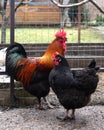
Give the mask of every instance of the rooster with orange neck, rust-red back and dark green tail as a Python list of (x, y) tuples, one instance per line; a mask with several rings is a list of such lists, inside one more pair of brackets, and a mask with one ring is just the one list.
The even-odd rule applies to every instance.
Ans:
[(25, 90), (38, 98), (39, 109), (43, 108), (41, 98), (46, 97), (50, 91), (48, 76), (54, 67), (52, 55), (58, 51), (64, 56), (66, 40), (66, 32), (60, 29), (44, 55), (37, 59), (28, 58), (19, 43), (11, 44), (6, 50), (7, 75), (22, 82)]

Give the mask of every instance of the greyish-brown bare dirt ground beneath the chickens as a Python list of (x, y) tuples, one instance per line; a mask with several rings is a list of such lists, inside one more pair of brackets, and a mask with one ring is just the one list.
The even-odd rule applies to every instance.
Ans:
[(88, 106), (76, 110), (74, 121), (61, 121), (65, 109), (59, 105), (54, 94), (50, 101), (58, 108), (38, 110), (35, 107), (0, 109), (0, 130), (104, 130), (104, 73), (99, 74), (100, 81)]

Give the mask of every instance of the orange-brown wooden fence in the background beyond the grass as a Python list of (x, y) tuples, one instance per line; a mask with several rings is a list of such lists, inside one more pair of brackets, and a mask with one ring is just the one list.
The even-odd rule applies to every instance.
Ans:
[[(6, 15), (10, 15), (9, 6), (6, 9)], [(57, 25), (60, 24), (61, 13), (56, 6), (21, 6), (15, 13), (15, 24), (22, 26), (29, 25)], [(0, 15), (0, 24), (2, 18)]]

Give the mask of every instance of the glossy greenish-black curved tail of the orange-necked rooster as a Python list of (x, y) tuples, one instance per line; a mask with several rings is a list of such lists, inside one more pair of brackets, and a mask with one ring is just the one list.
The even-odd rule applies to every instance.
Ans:
[(26, 58), (27, 54), (23, 46), (19, 43), (11, 44), (6, 50), (6, 73), (16, 79), (16, 62), (21, 58)]

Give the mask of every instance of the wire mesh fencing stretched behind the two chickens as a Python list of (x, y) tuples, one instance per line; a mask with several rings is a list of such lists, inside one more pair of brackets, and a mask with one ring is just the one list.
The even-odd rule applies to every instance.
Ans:
[[(19, 1), (16, 1), (17, 5)], [(104, 1), (103, 1), (104, 2)], [(81, 7), (80, 23), (78, 21), (78, 8), (62, 10), (53, 5), (49, 0), (26, 0), (15, 12), (15, 41), (23, 44), (28, 57), (40, 57), (44, 54), (47, 46), (55, 38), (55, 33), (64, 24), (64, 30), (67, 33), (67, 50), (65, 57), (67, 58), (72, 68), (84, 68), (88, 63), (95, 59), (98, 66), (104, 67), (104, 14), (101, 14), (92, 5), (84, 5)], [(9, 17), (10, 7), (7, 5), (6, 17)], [(63, 15), (63, 18), (62, 18)], [(2, 36), (3, 19), (0, 15), (0, 36)], [(80, 25), (79, 25), (80, 24)], [(7, 21), (6, 27), (6, 43), (0, 44), (0, 48), (4, 49), (10, 44), (10, 23)], [(80, 26), (80, 28), (79, 28)], [(80, 42), (78, 41), (80, 32)], [(5, 52), (4, 52), (5, 53)], [(3, 54), (4, 54), (3, 53)], [(2, 54), (1, 54), (2, 55)], [(1, 56), (0, 55), (0, 56)], [(0, 57), (1, 58), (1, 57)], [(1, 71), (5, 71), (5, 54), (2, 58), (4, 64)], [(1, 62), (1, 59), (0, 59)], [(5, 79), (8, 82), (5, 84)], [(3, 85), (2, 96), (0, 100), (5, 104), (10, 95), (6, 95), (6, 90), (9, 88), (8, 76), (1, 75), (0, 84)], [(18, 83), (15, 83), (15, 93), (20, 97), (17, 102), (19, 104), (33, 104), (34, 98), (23, 91)], [(24, 97), (28, 97), (24, 98)], [(29, 102), (28, 102), (29, 101)], [(7, 101), (8, 102), (8, 101)]]

